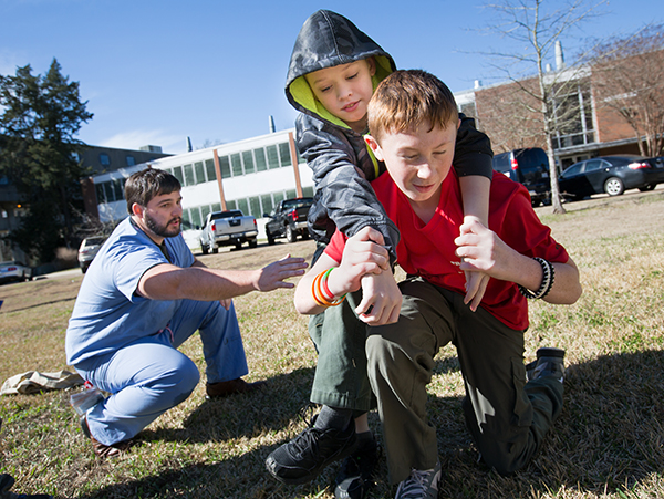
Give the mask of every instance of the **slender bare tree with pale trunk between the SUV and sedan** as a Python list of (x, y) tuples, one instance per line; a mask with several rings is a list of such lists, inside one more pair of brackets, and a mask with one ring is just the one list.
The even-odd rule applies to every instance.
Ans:
[[(553, 212), (562, 214), (564, 208), (558, 188), (554, 141), (561, 135), (574, 133), (584, 119), (583, 100), (575, 93), (580, 82), (589, 77), (588, 69), (581, 65), (564, 65), (562, 52), (557, 51), (557, 42), (563, 34), (578, 28), (583, 21), (598, 14), (598, 7), (604, 0), (501, 0), (485, 7), (495, 13), (489, 31), (517, 42), (511, 52), (484, 52), (497, 70), (509, 82), (511, 108), (508, 117), (513, 123), (521, 122), (520, 128), (539, 137), (549, 157), (551, 178), (551, 204)], [(526, 50), (522, 50), (522, 48)], [(560, 45), (558, 44), (558, 48)], [(557, 71), (548, 71), (547, 61), (557, 55)], [(483, 123), (486, 117), (479, 108)], [(504, 119), (505, 121), (505, 119)], [(512, 127), (515, 126), (512, 123)], [(487, 133), (490, 134), (487, 127)]]

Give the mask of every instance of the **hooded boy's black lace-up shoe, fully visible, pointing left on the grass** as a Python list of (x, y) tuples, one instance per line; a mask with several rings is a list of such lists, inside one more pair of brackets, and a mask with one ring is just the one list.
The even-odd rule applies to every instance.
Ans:
[(270, 475), (288, 485), (307, 484), (323, 468), (355, 450), (355, 423), (344, 430), (315, 428), (315, 416), (300, 435), (272, 451), (266, 459)]

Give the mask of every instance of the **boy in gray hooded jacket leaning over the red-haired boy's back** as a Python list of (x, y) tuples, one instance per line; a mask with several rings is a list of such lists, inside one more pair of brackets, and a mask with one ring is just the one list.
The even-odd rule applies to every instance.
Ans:
[[(367, 226), (382, 235), (380, 242), (391, 264), (396, 260), (398, 229), (371, 187), (385, 166), (363, 137), (373, 91), (395, 70), (387, 52), (335, 12), (313, 13), (298, 34), (286, 94), (300, 111), (297, 144), (313, 170), (317, 187), (308, 217), (317, 241), (314, 262), (335, 229), (351, 237)], [(463, 114), (459, 118), (454, 163), (465, 215), (486, 225), (492, 175), (490, 142), (473, 119)], [(466, 276), (465, 302), (476, 310), (488, 277), (479, 272)], [(365, 325), (395, 322), (402, 303), (392, 272), (367, 274), (362, 289), (364, 293), (350, 293), (341, 306), (311, 319), (309, 332), (319, 353), (311, 402), (321, 404), (322, 409), (304, 432), (266, 461), (280, 481), (303, 484), (346, 457), (336, 477), (338, 498), (362, 497), (377, 461), (377, 446), (366, 419), (375, 398), (366, 375)]]

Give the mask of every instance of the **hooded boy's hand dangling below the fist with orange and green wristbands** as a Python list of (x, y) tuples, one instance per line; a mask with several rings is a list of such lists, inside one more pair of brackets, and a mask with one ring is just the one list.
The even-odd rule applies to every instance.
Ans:
[(370, 273), (362, 278), (362, 301), (355, 313), (369, 325), (391, 324), (398, 320), (402, 299), (392, 272)]

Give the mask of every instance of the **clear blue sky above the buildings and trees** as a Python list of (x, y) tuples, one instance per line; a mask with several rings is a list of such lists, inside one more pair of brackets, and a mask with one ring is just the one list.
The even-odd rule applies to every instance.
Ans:
[[(351, 19), (398, 67), (439, 76), (453, 92), (490, 83), (479, 51), (506, 41), (480, 31), (490, 22), (483, 0), (404, 2), (267, 0), (0, 0), (0, 74), (30, 64), (44, 74), (53, 58), (94, 117), (79, 138), (184, 153), (293, 126), (283, 94), (291, 50), (318, 9)], [(559, 0), (551, 3), (562, 4)], [(566, 58), (585, 38), (629, 34), (663, 22), (662, 0), (610, 0), (604, 15), (563, 38)], [(553, 63), (553, 61), (551, 61)]]

